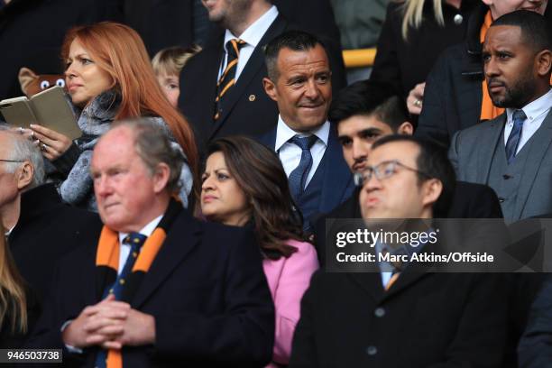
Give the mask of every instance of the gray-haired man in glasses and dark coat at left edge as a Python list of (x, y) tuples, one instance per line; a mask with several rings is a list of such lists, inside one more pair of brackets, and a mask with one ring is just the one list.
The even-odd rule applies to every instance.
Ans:
[(39, 303), (50, 293), (52, 265), (101, 226), (96, 214), (63, 204), (44, 179), (40, 149), (0, 126), (0, 220), (15, 264)]

